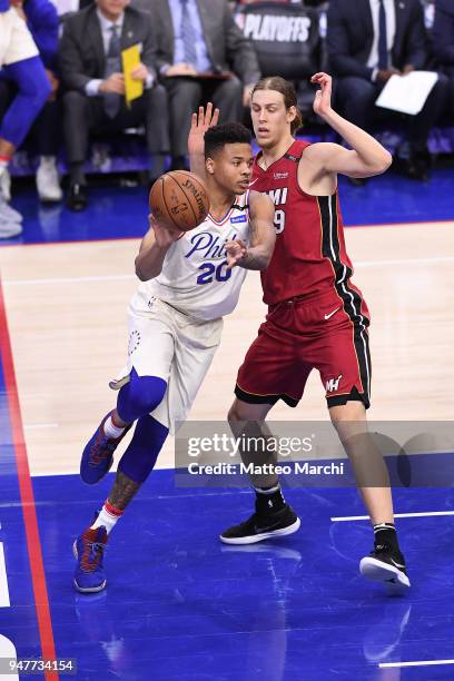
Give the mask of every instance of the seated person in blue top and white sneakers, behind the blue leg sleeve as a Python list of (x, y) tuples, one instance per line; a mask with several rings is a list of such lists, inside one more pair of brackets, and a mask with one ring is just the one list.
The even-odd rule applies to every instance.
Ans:
[[(34, 39), (51, 87), (45, 108), (33, 125), (33, 138), (40, 156), (37, 171), (37, 189), (42, 201), (59, 201), (62, 198), (57, 171), (57, 154), (60, 142), (60, 116), (56, 75), (58, 50), (58, 16), (50, 0), (11, 0), (11, 4), (27, 21)], [(18, 92), (17, 85), (0, 71), (0, 118)], [(7, 189), (8, 191), (8, 189)]]

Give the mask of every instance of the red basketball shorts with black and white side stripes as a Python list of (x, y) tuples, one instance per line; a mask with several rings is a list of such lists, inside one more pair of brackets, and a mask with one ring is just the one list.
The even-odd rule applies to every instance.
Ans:
[(361, 401), (369, 407), (369, 314), (353, 284), (269, 308), (239, 368), (235, 394), (250, 404), (283, 399), (296, 406), (318, 369), (328, 407)]

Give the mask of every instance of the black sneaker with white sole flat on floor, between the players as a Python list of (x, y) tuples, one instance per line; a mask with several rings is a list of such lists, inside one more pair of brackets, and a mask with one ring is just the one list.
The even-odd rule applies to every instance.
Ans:
[(299, 530), (299, 517), (288, 504), (274, 513), (254, 513), (247, 521), (229, 527), (219, 539), (225, 544), (254, 544)]

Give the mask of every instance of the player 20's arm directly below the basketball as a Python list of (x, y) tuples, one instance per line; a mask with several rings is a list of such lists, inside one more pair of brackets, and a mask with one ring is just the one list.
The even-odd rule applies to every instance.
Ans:
[(148, 219), (150, 228), (141, 240), (136, 258), (136, 275), (140, 282), (148, 282), (160, 275), (167, 251), (185, 234), (159, 225), (151, 214)]

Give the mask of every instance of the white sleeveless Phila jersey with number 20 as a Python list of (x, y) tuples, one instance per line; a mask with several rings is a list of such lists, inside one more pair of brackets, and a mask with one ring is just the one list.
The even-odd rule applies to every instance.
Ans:
[(249, 191), (237, 197), (227, 215), (211, 215), (185, 233), (169, 248), (158, 277), (145, 282), (139, 293), (155, 296), (197, 319), (230, 314), (239, 297), (246, 269), (227, 269), (227, 241), (249, 243)]

